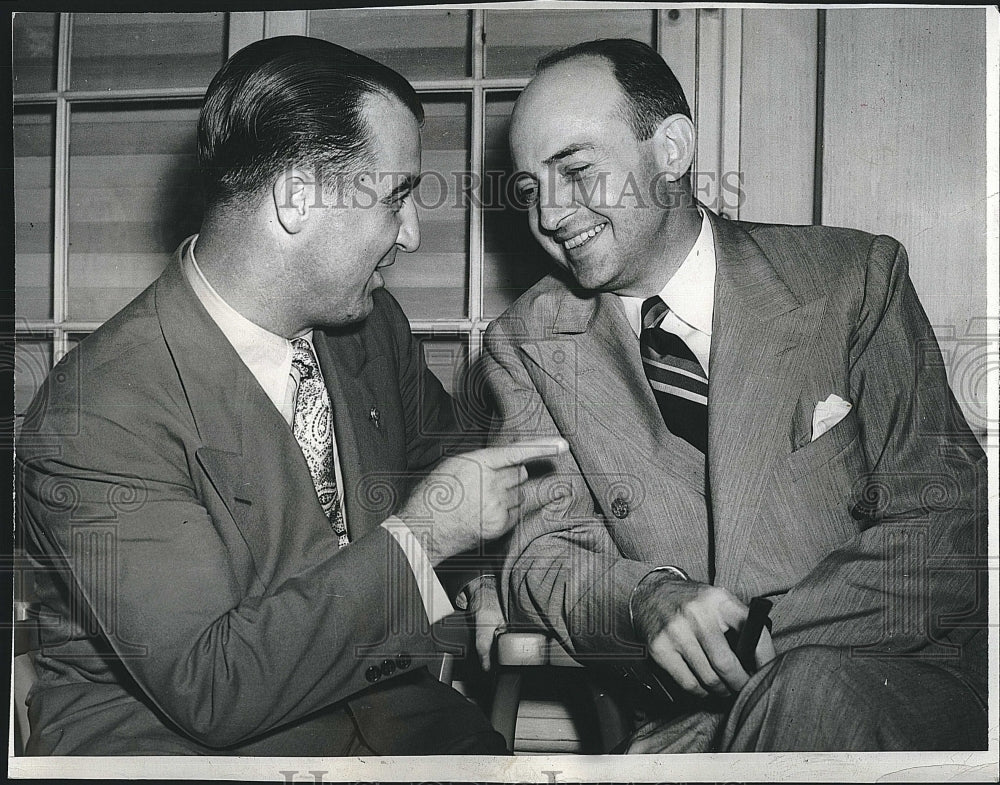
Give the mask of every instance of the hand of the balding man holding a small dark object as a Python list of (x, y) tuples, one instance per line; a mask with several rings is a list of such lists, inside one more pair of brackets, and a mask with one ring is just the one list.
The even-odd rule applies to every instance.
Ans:
[[(660, 572), (639, 583), (632, 602), (636, 634), (649, 655), (681, 687), (699, 697), (739, 692), (750, 679), (726, 641), (748, 608), (721, 586), (681, 581)], [(757, 644), (757, 666), (774, 659), (765, 627)]]

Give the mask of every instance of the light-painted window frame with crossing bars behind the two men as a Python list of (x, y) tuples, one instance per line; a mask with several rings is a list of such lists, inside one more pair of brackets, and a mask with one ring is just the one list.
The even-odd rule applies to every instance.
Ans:
[[(472, 172), (483, 174), (485, 159), (486, 100), (489, 93), (518, 91), (529, 78), (485, 75), (487, 51), (486, 21), (489, 9), (452, 6), (470, 12), (471, 74), (461, 78), (421, 79), (412, 82), (420, 94), (456, 93), (469, 97), (471, 106), (469, 163)], [(519, 10), (507, 7), (502, 10)], [(524, 7), (530, 11), (530, 6)], [(574, 9), (580, 10), (580, 9)], [(594, 9), (610, 10), (607, 8)], [(738, 9), (670, 9), (647, 8), (653, 14), (653, 45), (661, 54), (682, 64), (678, 76), (684, 84), (700, 128), (715, 129), (699, 136), (698, 165), (706, 171), (728, 171), (739, 167), (739, 78), (741, 56), (741, 11)], [(690, 15), (690, 16), (685, 16)], [(134, 102), (190, 101), (204, 97), (202, 87), (143, 88), (111, 90), (74, 90), (70, 88), (72, 30), (75, 14), (58, 15), (56, 44), (56, 85), (48, 92), (15, 93), (15, 107), (54, 107), (55, 150), (53, 153), (53, 255), (52, 255), (52, 316), (49, 319), (17, 318), (18, 336), (37, 340), (48, 336), (52, 341), (52, 361), (56, 363), (69, 350), (74, 338), (93, 332), (101, 321), (73, 320), (67, 316), (68, 241), (69, 241), (69, 165), (70, 111), (88, 103), (120, 105)], [(680, 20), (680, 22), (678, 22)], [(228, 12), (225, 29), (226, 57), (247, 44), (277, 35), (309, 34), (308, 11), (246, 11)], [(699, 95), (715, 95), (717, 101), (699, 102)], [(733, 118), (733, 119), (730, 119)], [(702, 121), (706, 122), (702, 122)], [(704, 195), (710, 205), (718, 197), (717, 189)], [(729, 217), (738, 214), (729, 212)], [(466, 314), (443, 315), (434, 319), (410, 319), (410, 326), (419, 337), (465, 337), (467, 356), (474, 361), (482, 349), (482, 335), (491, 318), (484, 314), (483, 290), (484, 221), (481, 210), (470, 207), (466, 245)], [(15, 308), (16, 311), (16, 308)]]

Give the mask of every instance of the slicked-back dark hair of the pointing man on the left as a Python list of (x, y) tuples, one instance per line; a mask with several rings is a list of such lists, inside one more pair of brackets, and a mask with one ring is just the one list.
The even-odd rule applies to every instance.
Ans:
[(280, 36), (234, 54), (212, 79), (198, 118), (198, 164), (208, 207), (259, 197), (293, 166), (324, 184), (371, 165), (371, 94), (396, 98), (422, 123), (423, 106), (402, 76), (328, 41)]

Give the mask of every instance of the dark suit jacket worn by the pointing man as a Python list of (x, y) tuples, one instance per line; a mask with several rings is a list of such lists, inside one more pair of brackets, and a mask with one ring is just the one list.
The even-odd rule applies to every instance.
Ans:
[(291, 430), (176, 259), (56, 365), (17, 456), (42, 613), (29, 753), (337, 754), (350, 701), (392, 713), (392, 690), (363, 691), (433, 645), (379, 524), (452, 415), (395, 300), (374, 299), (364, 323), (315, 333), (343, 550)]

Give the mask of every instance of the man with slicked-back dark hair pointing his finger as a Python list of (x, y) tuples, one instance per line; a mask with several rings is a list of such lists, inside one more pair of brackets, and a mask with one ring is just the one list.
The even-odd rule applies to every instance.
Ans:
[(422, 117), (316, 39), (212, 81), (201, 233), (25, 418), (30, 754), (505, 752), (425, 667), (432, 567), (506, 531), (556, 448), (441, 460), (451, 401), (378, 272), (419, 243)]

